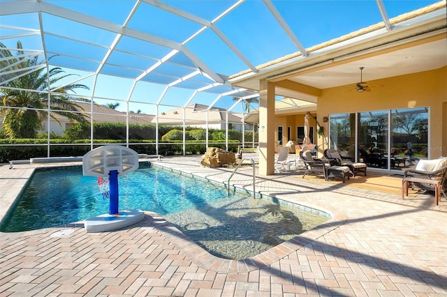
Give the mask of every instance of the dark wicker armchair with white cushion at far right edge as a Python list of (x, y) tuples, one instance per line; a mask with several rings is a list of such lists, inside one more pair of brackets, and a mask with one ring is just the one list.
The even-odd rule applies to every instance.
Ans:
[[(441, 184), (441, 193), (446, 197), (447, 190), (447, 158), (441, 157), (434, 160), (420, 160), (416, 169), (406, 169), (404, 172), (404, 178), (423, 178), (439, 181)], [(432, 183), (414, 183), (411, 182), (411, 188), (419, 188), (421, 190), (434, 191), (434, 185)]]

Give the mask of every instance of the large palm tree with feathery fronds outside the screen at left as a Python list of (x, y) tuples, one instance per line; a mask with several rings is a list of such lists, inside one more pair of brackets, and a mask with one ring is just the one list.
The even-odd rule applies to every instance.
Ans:
[[(45, 61), (38, 61), (38, 56), (30, 57), (24, 54), (20, 41), (17, 42), (16, 56), (0, 43), (0, 69), (0, 99), (3, 107), (7, 107), (1, 108), (0, 112), (3, 115), (3, 130), (7, 137), (35, 138), (38, 130), (42, 128), (42, 121), (47, 119), (48, 105), (51, 109), (57, 109), (52, 110), (50, 116), (59, 125), (56, 114), (65, 116), (74, 123), (87, 122), (88, 116), (73, 112), (84, 110), (75, 101), (89, 100), (73, 98), (68, 92), (75, 93), (75, 89), (88, 90), (89, 87), (83, 84), (55, 86), (61, 79), (71, 75), (64, 74), (64, 70), (59, 67), (48, 71)], [(48, 98), (47, 91), (50, 90), (54, 93)]]

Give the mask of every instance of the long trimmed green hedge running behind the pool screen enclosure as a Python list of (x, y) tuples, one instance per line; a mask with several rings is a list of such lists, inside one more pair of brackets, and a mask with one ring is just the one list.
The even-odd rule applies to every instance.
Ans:
[[(94, 147), (103, 144), (125, 144), (126, 124), (125, 123), (94, 123)], [(85, 155), (90, 150), (90, 125), (73, 125), (64, 131), (63, 135), (50, 135), (50, 156), (80, 156)], [(186, 132), (186, 154), (205, 153), (206, 130), (197, 127), (185, 127)], [(8, 139), (2, 138), (0, 130), (0, 163), (9, 160), (21, 160), (29, 158), (47, 157), (47, 135), (41, 133), (36, 139)], [(210, 146), (225, 148), (225, 130), (209, 129), (208, 142)], [(258, 142), (258, 132), (255, 132), (255, 142)], [(129, 124), (129, 147), (137, 153), (156, 153), (155, 139), (156, 125), (154, 124)], [(150, 140), (147, 140), (150, 139)], [(181, 155), (183, 153), (182, 139), (183, 127), (171, 125), (159, 125), (159, 154), (160, 155)], [(237, 148), (242, 142), (242, 132), (228, 130), (229, 151), (237, 152)], [(246, 142), (252, 142), (253, 131), (245, 131)], [(8, 144), (19, 144), (20, 146), (7, 146)], [(66, 144), (66, 145), (64, 145)], [(72, 145), (72, 144), (86, 144)]]

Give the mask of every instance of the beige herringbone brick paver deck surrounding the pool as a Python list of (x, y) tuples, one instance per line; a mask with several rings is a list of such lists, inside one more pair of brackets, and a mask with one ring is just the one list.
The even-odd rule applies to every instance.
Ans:
[[(226, 182), (200, 157), (165, 167)], [(34, 165), (0, 166), (0, 218)], [(251, 167), (232, 178), (252, 189)], [(82, 224), (0, 233), (0, 296), (447, 296), (447, 201), (315, 181), (257, 176), (256, 191), (332, 215), (322, 226), (246, 260), (214, 257), (155, 213), (126, 229)]]

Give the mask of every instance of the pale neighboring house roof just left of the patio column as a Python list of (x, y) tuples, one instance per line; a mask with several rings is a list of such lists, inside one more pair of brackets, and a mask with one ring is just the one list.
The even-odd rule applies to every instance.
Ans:
[[(168, 112), (159, 114), (159, 123), (167, 125), (182, 125), (183, 119), (189, 125), (202, 125), (205, 123), (225, 123), (227, 110), (219, 107), (212, 107), (208, 112), (208, 105), (191, 104), (183, 107), (171, 109)], [(184, 116), (185, 113), (185, 116)], [(208, 114), (208, 116), (207, 116)], [(242, 114), (228, 112), (228, 123), (241, 123)], [(152, 119), (156, 123), (156, 119)]]

